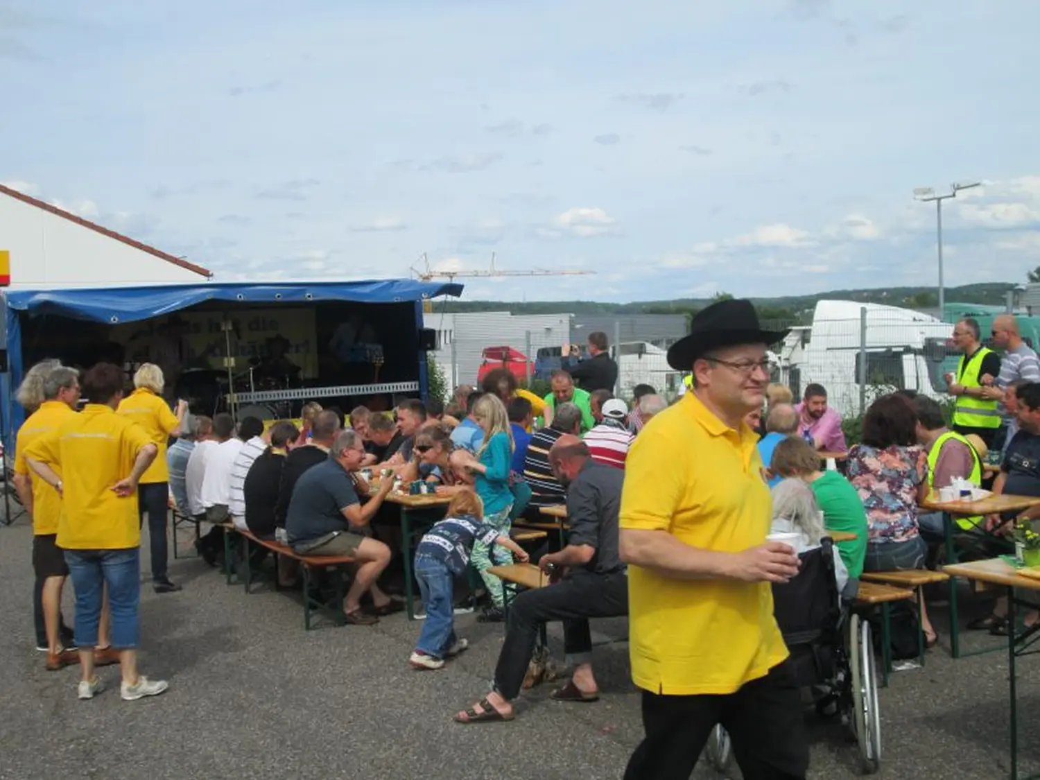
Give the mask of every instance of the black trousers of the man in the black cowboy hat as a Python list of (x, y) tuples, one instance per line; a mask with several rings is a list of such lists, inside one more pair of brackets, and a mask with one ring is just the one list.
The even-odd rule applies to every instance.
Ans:
[(729, 732), (744, 780), (804, 780), (809, 747), (788, 661), (726, 696), (643, 692), (646, 738), (625, 780), (690, 780), (716, 724)]

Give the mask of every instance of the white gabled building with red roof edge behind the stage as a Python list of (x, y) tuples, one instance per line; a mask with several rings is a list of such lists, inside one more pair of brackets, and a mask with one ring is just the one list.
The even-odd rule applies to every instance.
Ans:
[(0, 259), (4, 253), (11, 289), (193, 284), (213, 276), (200, 265), (0, 185)]

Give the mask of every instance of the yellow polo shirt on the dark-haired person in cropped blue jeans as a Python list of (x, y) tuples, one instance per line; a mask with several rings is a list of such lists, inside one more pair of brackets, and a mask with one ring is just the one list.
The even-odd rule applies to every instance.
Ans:
[(58, 547), (121, 550), (140, 545), (137, 494), (121, 498), (112, 490), (133, 469), (148, 434), (111, 407), (87, 404), (33, 441), (25, 454), (62, 473), (64, 511)]

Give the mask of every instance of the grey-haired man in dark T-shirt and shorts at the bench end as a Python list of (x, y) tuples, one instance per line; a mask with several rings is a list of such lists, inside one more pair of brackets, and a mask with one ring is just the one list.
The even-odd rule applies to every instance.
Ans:
[(393, 487), (383, 479), (371, 498), (361, 505), (350, 471), (365, 457), (361, 437), (341, 431), (329, 451), (329, 459), (309, 468), (296, 480), (285, 518), (289, 546), (297, 555), (349, 556), (358, 565), (354, 582), (343, 599), (346, 622), (368, 626), (379, 622), (361, 610), (361, 597), (371, 591), (376, 614), (389, 614), (394, 602), (375, 587), (375, 580), (390, 563), (390, 548), (362, 535), (383, 499)]

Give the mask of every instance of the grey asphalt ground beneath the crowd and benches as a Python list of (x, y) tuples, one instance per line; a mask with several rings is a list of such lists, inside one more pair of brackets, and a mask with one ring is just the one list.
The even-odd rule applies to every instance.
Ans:
[[(522, 695), (512, 723), (463, 726), (451, 716), (486, 693), (500, 625), (461, 616), (470, 649), (442, 671), (415, 672), (407, 661), (418, 628), (402, 615), (374, 627), (305, 632), (298, 596), (245, 595), (197, 558), (171, 564), (181, 593), (155, 595), (147, 552), (140, 668), (170, 690), (124, 702), (110, 667), (100, 671), (108, 690), (81, 702), (78, 670), (47, 672), (33, 649), (30, 542), (24, 519), (0, 527), (0, 778), (597, 780), (621, 778), (642, 735), (624, 642), (596, 649), (598, 703), (553, 702), (544, 684)], [(71, 588), (64, 603), (71, 620)], [(935, 613), (944, 642), (945, 613)], [(595, 641), (625, 633), (624, 620), (594, 623)], [(558, 626), (549, 639), (562, 660)], [(965, 641), (985, 643), (1005, 647), (978, 634)], [(1021, 760), (1033, 771), (1040, 770), (1040, 742), (1029, 737), (1040, 726), (1036, 672), (1035, 658), (1020, 659)], [(1006, 651), (955, 661), (937, 648), (925, 669), (893, 675), (880, 708), (880, 777), (1007, 777)], [(809, 777), (860, 776), (846, 729), (811, 712), (807, 722)], [(693, 777), (721, 775), (702, 762)]]

